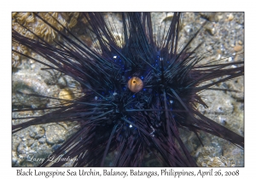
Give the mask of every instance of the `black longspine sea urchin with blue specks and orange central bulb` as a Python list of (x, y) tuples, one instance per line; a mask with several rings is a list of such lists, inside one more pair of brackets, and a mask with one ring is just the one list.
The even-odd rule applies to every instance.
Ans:
[[(13, 132), (35, 124), (78, 121), (80, 130), (53, 153), (76, 158), (73, 166), (143, 166), (148, 153), (163, 166), (196, 166), (178, 128), (195, 135), (202, 130), (243, 147), (242, 136), (196, 108), (197, 104), (207, 107), (199, 92), (218, 90), (212, 86), (241, 77), (243, 61), (201, 65), (203, 56), (195, 53), (200, 45), (189, 48), (200, 30), (182, 48), (177, 46), (180, 13), (173, 14), (162, 35), (155, 34), (149, 13), (122, 13), (122, 38), (113, 33), (115, 25), (109, 25), (101, 13), (84, 13), (87, 31), (97, 41), (94, 48), (64, 26), (68, 35), (35, 15), (63, 40), (56, 41), (56, 46), (38, 36), (38, 40), (25, 38), (13, 30), (13, 41), (51, 62), (39, 61), (45, 66), (74, 78), (85, 95), (55, 107), (54, 112), (13, 125)], [(230, 68), (233, 65), (236, 67)], [(107, 164), (109, 156), (112, 159)], [(49, 164), (45, 159), (40, 166)]]

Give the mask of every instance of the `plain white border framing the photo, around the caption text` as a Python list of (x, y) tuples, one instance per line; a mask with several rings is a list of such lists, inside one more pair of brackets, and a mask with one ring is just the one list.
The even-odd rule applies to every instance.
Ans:
[[(12, 0), (3, 1), (1, 3), (1, 26), (0, 26), (0, 50), (1, 50), (1, 153), (0, 153), (0, 175), (3, 178), (9, 178), (10, 176), (16, 176), (16, 170), (18, 168), (11, 167), (11, 12), (12, 11), (240, 11), (245, 12), (245, 167), (238, 168), (240, 170), (240, 176), (236, 178), (242, 178), (244, 176), (254, 176), (254, 161), (255, 161), (255, 121), (253, 111), (255, 111), (254, 100), (256, 94), (255, 91), (255, 11), (253, 3), (247, 3), (245, 1), (235, 0), (214, 0), (214, 1), (195, 1), (195, 0), (169, 0), (169, 1), (55, 1), (55, 0), (43, 0), (43, 1), (24, 1), (24, 0)], [(253, 93), (254, 92), (254, 93)], [(24, 168), (28, 169), (28, 168)], [(56, 170), (57, 168), (32, 168), (32, 170)], [(68, 168), (70, 170), (79, 170)], [(68, 170), (67, 168), (58, 168), (58, 170)], [(94, 168), (95, 169), (95, 168)], [(108, 168), (109, 169), (109, 168)], [(131, 168), (117, 168), (117, 170), (130, 170)], [(102, 168), (99, 170), (103, 170)], [(160, 168), (143, 168), (142, 170), (160, 170)], [(174, 168), (174, 170), (194, 170), (198, 171), (198, 168)], [(204, 169), (208, 170), (208, 169)], [(209, 169), (210, 170), (210, 169)], [(215, 170), (215, 169), (214, 169)], [(233, 169), (221, 169), (233, 170)], [(234, 169), (235, 170), (235, 169)], [(7, 177), (4, 177), (7, 176)], [(60, 176), (59, 176), (60, 177)], [(68, 176), (61, 176), (61, 178), (67, 178)], [(90, 178), (89, 176), (81, 176)], [(131, 177), (131, 176), (129, 176)], [(133, 176), (137, 177), (138, 176)], [(146, 178), (146, 176), (141, 176)], [(172, 176), (161, 176), (170, 178)], [(32, 176), (35, 178), (35, 176)], [(42, 178), (42, 176), (40, 177)], [(45, 178), (45, 177), (44, 177)], [(57, 176), (55, 177), (57, 178)], [(106, 178), (121, 178), (108, 176)], [(153, 176), (151, 177), (153, 178)], [(204, 177), (207, 178), (207, 177)], [(251, 177), (252, 178), (252, 177)]]

